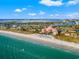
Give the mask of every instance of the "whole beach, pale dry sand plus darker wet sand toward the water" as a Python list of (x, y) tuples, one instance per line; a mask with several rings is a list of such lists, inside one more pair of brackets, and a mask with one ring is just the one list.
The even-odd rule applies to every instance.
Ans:
[(59, 48), (64, 48), (66, 50), (72, 50), (79, 53), (78, 43), (61, 41), (61, 40), (55, 39), (51, 35), (44, 35), (45, 37), (43, 37), (42, 34), (22, 34), (22, 33), (16, 33), (16, 32), (11, 32), (11, 31), (3, 31), (3, 30), (0, 30), (0, 33), (14, 35), (17, 37), (22, 37), (22, 38), (29, 38), (30, 40), (35, 41), (37, 43), (51, 45), (51, 46), (54, 45)]

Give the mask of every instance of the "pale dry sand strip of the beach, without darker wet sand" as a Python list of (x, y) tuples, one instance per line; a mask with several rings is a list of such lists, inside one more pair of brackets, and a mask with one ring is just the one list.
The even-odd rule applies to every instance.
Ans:
[(66, 41), (61, 41), (55, 39), (51, 35), (41, 35), (41, 34), (21, 34), (21, 33), (15, 33), (11, 31), (0, 31), (0, 33), (5, 33), (5, 34), (11, 34), (11, 35), (16, 35), (20, 37), (25, 37), (25, 38), (31, 38), (31, 39), (36, 39), (36, 40), (41, 40), (43, 42), (48, 42), (48, 43), (55, 43), (58, 45), (63, 45), (63, 46), (68, 46), (68, 47), (73, 47), (76, 49), (79, 49), (79, 44), (73, 43), (73, 42), (66, 42)]

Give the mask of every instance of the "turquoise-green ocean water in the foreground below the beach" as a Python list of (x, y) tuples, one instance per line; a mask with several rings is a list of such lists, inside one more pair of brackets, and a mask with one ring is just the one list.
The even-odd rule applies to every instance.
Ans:
[(79, 55), (0, 35), (0, 59), (79, 59)]

